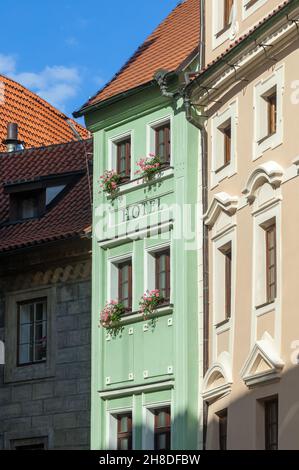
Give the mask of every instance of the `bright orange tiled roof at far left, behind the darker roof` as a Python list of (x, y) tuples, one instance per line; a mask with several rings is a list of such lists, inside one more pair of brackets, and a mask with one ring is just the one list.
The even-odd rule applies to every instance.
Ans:
[[(8, 122), (19, 125), (19, 138), (26, 148), (60, 144), (76, 140), (65, 114), (51, 106), (35, 93), (10, 78), (0, 75), (0, 151), (6, 138)], [(83, 139), (90, 137), (83, 126), (71, 119)]]

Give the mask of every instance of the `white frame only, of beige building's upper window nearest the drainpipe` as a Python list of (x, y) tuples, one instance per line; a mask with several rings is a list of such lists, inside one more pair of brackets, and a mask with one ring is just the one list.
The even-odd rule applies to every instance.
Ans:
[[(221, 127), (231, 122), (231, 159), (230, 163), (224, 163), (224, 134)], [(227, 109), (218, 112), (212, 118), (212, 168), (211, 187), (217, 186), (220, 181), (237, 173), (237, 125), (238, 125), (238, 102), (233, 101)], [(223, 163), (222, 163), (223, 162)]]

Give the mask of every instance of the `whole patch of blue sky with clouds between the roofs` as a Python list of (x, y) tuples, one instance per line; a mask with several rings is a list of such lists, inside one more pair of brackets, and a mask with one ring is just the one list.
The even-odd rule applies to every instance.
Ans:
[(0, 73), (71, 114), (178, 0), (2, 2)]

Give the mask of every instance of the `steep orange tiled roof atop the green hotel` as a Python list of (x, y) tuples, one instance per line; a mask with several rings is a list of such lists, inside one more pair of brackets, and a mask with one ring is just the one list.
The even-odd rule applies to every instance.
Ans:
[(115, 77), (86, 106), (146, 84), (158, 69), (174, 71), (198, 48), (200, 0), (185, 0), (145, 40)]

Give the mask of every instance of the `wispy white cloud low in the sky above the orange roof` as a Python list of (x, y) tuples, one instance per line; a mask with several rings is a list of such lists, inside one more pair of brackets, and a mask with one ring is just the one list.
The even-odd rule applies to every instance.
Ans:
[(81, 83), (77, 67), (46, 66), (40, 72), (19, 72), (14, 56), (0, 54), (0, 73), (37, 93), (61, 111), (74, 98)]

